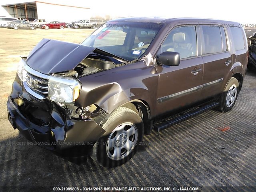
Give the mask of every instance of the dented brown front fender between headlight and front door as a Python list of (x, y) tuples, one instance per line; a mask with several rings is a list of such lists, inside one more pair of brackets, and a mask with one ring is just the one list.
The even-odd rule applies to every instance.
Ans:
[[(151, 114), (156, 105), (158, 74), (144, 61), (84, 76), (76, 106), (96, 104), (108, 114), (132, 100), (144, 100)], [(111, 72), (110, 72), (111, 71)]]

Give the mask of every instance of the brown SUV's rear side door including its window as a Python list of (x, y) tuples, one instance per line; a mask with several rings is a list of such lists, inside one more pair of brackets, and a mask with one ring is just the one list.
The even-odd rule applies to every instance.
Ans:
[(224, 90), (232, 76), (232, 49), (226, 28), (218, 25), (200, 25), (204, 78), (202, 97), (212, 98)]

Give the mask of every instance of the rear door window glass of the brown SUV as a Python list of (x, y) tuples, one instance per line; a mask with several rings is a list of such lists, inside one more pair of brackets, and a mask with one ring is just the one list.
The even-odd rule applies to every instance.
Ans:
[(220, 27), (202, 26), (204, 37), (204, 54), (222, 52), (222, 38)]

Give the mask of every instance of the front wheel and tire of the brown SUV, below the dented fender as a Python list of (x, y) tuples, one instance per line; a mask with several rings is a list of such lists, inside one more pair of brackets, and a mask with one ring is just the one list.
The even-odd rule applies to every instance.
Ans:
[(134, 156), (142, 141), (144, 126), (141, 117), (126, 107), (118, 108), (102, 126), (106, 130), (94, 144), (91, 158), (103, 167), (116, 167)]

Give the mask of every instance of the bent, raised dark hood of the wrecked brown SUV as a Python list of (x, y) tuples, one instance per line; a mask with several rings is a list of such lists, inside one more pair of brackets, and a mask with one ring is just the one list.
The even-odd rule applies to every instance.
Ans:
[(94, 50), (80, 44), (42, 39), (28, 54), (27, 64), (43, 74), (69, 71)]

